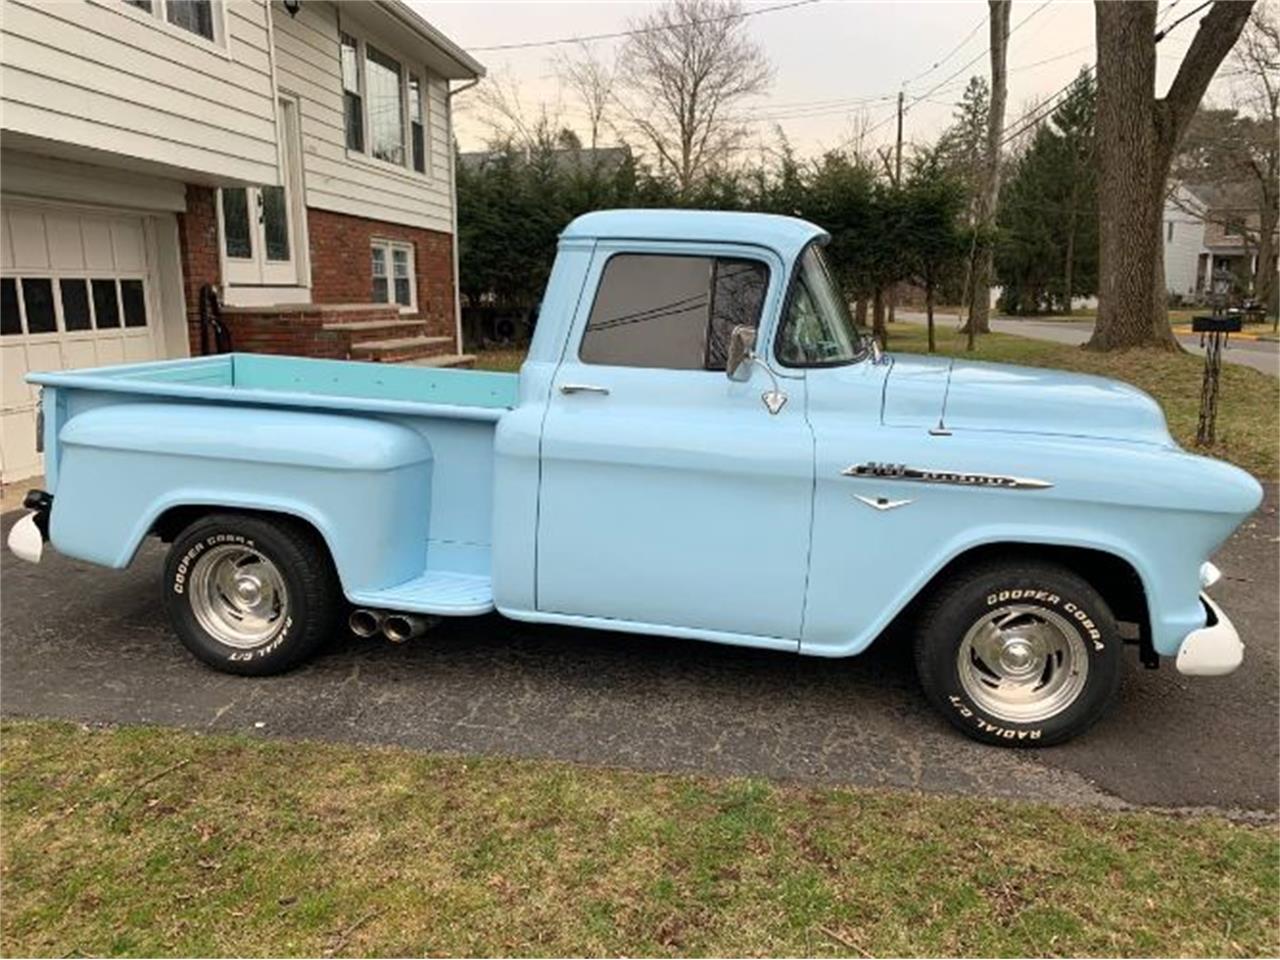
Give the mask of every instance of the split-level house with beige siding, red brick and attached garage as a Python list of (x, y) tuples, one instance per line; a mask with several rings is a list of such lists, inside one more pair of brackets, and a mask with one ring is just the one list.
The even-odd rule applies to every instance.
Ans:
[(0, 0), (0, 479), (28, 370), (234, 349), (451, 364), (451, 81), (398, 0)]

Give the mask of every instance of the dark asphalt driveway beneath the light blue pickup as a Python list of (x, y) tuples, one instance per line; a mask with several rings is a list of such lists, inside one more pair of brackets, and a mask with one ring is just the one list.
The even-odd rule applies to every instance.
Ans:
[(1272, 488), (1217, 558), (1228, 580), (1215, 593), (1249, 644), (1244, 669), (1190, 681), (1134, 660), (1117, 709), (1098, 727), (1032, 753), (952, 732), (916, 692), (906, 646), (886, 641), (850, 660), (819, 660), (489, 617), (404, 646), (342, 637), (288, 676), (229, 677), (172, 639), (157, 605), (157, 544), (128, 571), (56, 554), (32, 567), (5, 554), (0, 707), (644, 769), (1275, 814), (1276, 534)]

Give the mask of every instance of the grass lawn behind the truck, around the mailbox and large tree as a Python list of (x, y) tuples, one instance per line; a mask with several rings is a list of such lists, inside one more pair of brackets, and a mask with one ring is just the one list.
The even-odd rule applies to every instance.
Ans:
[[(1197, 451), (1196, 424), (1204, 371), (1201, 357), (1157, 349), (1094, 353), (1000, 333), (979, 337), (978, 349), (968, 353), (965, 338), (955, 330), (952, 320), (938, 323), (937, 340), (938, 352), (947, 356), (1059, 367), (1126, 380), (1155, 397), (1165, 410), (1174, 438), (1187, 449)], [(924, 326), (897, 323), (888, 328), (890, 351), (923, 353), (927, 343)], [(524, 352), (518, 349), (486, 351), (480, 353), (477, 366), (518, 370), (522, 360)], [(1280, 381), (1238, 364), (1224, 364), (1221, 389), (1217, 445), (1197, 452), (1231, 461), (1265, 480), (1275, 480), (1280, 474)]]

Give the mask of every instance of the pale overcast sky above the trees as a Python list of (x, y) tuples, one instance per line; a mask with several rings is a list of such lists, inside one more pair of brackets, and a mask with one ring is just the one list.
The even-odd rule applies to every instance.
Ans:
[[(751, 10), (780, 1), (746, 6)], [(415, 0), (424, 17), (485, 64), (490, 77), (511, 77), (526, 110), (535, 113), (541, 102), (553, 109), (558, 105), (566, 125), (576, 125), (580, 132), (580, 111), (556, 77), (557, 54), (572, 52), (572, 46), (500, 51), (481, 47), (622, 31), (654, 5), (631, 0)], [(1166, 24), (1185, 12), (1179, 6), (1194, 9), (1196, 3), (1164, 0), (1161, 15), (1167, 10)], [(749, 17), (746, 29), (776, 70), (768, 95), (751, 105), (755, 131), (772, 142), (776, 122), (801, 154), (813, 155), (845, 143), (859, 118), (865, 118), (864, 123), (873, 128), (870, 141), (891, 143), (893, 99), (905, 83), (909, 104), (913, 96), (925, 96), (910, 106), (905, 137), (909, 142), (932, 141), (948, 123), (952, 104), (969, 76), (988, 73), (986, 13), (986, 3), (973, 0), (819, 0)], [(1188, 19), (1160, 44), (1160, 92), (1172, 79), (1197, 19)], [(1093, 4), (1016, 0), (1010, 22), (1014, 32), (1009, 41), (1007, 118), (1014, 120), (1033, 101), (1055, 93), (1082, 67), (1093, 63)], [(595, 41), (593, 49), (599, 58), (612, 60), (622, 42)], [(964, 68), (973, 58), (978, 60)], [(851, 102), (868, 97), (883, 99)], [(471, 109), (460, 111), (457, 129), (462, 148), (474, 150), (483, 146), (488, 128), (474, 109), (474, 93), (462, 95), (463, 101), (467, 99)]]

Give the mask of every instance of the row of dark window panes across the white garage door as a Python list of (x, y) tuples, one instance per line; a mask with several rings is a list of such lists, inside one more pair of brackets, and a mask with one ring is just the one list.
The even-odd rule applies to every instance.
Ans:
[(147, 325), (141, 278), (5, 276), (0, 335), (83, 333)]

